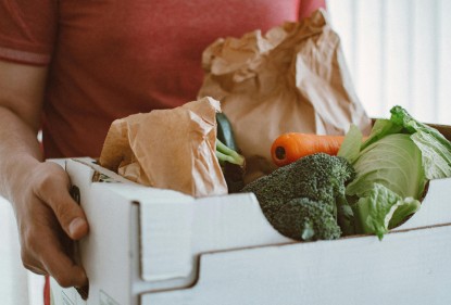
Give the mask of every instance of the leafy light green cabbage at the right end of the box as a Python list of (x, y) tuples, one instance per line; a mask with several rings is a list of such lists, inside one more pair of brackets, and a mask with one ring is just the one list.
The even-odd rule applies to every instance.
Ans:
[(353, 233), (379, 239), (419, 208), (428, 180), (451, 177), (451, 142), (404, 109), (390, 112), (390, 119), (377, 119), (363, 142), (351, 126), (338, 152), (356, 173), (346, 190)]

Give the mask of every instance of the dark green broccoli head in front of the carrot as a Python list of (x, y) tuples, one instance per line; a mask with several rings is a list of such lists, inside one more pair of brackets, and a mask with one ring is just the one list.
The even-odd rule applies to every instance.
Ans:
[(349, 162), (317, 153), (283, 166), (242, 189), (253, 192), (273, 227), (296, 240), (337, 239), (337, 219), (349, 218), (346, 183), (355, 176)]

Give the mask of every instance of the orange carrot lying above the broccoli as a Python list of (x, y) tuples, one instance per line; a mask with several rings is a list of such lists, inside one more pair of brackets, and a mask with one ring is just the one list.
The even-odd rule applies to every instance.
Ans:
[(274, 164), (284, 166), (298, 158), (314, 154), (327, 153), (337, 155), (344, 136), (318, 136), (314, 134), (289, 132), (279, 136), (271, 147)]

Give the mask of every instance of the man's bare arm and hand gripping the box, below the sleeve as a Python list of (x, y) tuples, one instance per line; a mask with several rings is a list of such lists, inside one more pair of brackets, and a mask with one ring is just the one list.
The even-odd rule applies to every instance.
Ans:
[(24, 266), (63, 287), (83, 287), (86, 274), (64, 244), (87, 234), (86, 216), (65, 171), (43, 162), (36, 137), (46, 79), (47, 67), (0, 60), (0, 193), (14, 207)]

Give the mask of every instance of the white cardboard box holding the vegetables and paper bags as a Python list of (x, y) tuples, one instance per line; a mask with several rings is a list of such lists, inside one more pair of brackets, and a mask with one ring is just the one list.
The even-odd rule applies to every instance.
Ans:
[(51, 280), (55, 305), (451, 304), (451, 179), (385, 236), (295, 242), (251, 193), (195, 200), (64, 160), (90, 224), (89, 297)]

